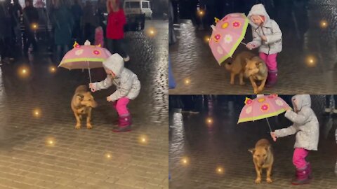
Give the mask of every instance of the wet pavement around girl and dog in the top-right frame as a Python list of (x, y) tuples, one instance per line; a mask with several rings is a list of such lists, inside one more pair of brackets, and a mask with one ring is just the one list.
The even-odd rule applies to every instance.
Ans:
[[(281, 6), (279, 10), (270, 10), (283, 33), (283, 51), (277, 57), (279, 82), (271, 89), (266, 88), (265, 93), (337, 92), (337, 3), (308, 2), (308, 8), (298, 5), (293, 9)], [(241, 86), (236, 78), (235, 85), (230, 85), (230, 73), (224, 64), (218, 65), (204, 39), (211, 31), (195, 29), (190, 20), (180, 20), (175, 29), (178, 42), (170, 47), (170, 55), (177, 87), (169, 90), (170, 94), (253, 94), (249, 80)], [(249, 41), (250, 27), (244, 43)], [(244, 45), (240, 45), (236, 53), (242, 50), (246, 50)]]

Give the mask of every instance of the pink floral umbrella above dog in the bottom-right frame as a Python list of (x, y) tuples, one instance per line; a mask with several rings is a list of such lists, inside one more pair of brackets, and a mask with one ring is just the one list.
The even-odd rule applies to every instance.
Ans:
[[(286, 104), (282, 98), (277, 97), (276, 94), (267, 96), (262, 94), (258, 95), (256, 99), (246, 98), (244, 104), (246, 105), (244, 105), (244, 108), (240, 113), (239, 120), (237, 122), (238, 124), (248, 121), (262, 120), (264, 118), (267, 119), (291, 109), (291, 107)], [(267, 123), (270, 132), (272, 132), (268, 119)]]

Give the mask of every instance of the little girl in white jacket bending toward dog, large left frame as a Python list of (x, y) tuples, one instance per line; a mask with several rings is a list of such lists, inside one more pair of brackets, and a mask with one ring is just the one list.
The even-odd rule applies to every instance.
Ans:
[(103, 62), (107, 78), (100, 82), (89, 83), (92, 92), (107, 89), (115, 85), (117, 90), (107, 97), (107, 102), (112, 102), (119, 116), (118, 127), (113, 132), (131, 131), (131, 115), (128, 111), (128, 102), (135, 99), (140, 91), (140, 81), (135, 73), (124, 68), (124, 59), (119, 54), (111, 55)]

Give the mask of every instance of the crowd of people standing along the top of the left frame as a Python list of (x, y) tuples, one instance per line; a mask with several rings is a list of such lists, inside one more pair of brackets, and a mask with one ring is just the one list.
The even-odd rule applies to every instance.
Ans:
[(129, 57), (123, 41), (125, 24), (119, 0), (98, 0), (96, 4), (86, 1), (84, 5), (80, 0), (53, 0), (48, 9), (45, 4), (33, 4), (33, 0), (25, 0), (24, 7), (18, 0), (0, 1), (1, 63), (10, 64), (11, 58), (39, 52), (39, 38), (43, 34), (48, 48), (54, 52), (55, 62), (60, 62), (74, 41), (98, 43), (95, 31), (103, 31), (100, 45), (107, 40), (110, 52), (118, 52), (127, 62)]

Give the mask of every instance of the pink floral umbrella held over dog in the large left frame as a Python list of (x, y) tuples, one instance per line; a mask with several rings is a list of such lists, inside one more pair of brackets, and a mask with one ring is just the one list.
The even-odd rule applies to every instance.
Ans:
[(106, 48), (100, 45), (91, 45), (90, 41), (86, 41), (84, 45), (74, 43), (74, 48), (65, 54), (59, 67), (65, 69), (88, 69), (91, 82), (90, 69), (103, 67), (103, 61), (111, 56)]

